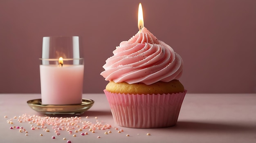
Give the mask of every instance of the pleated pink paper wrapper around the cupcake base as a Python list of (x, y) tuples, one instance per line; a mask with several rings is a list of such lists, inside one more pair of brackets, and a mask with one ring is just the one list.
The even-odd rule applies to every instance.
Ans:
[(164, 95), (130, 95), (104, 90), (114, 121), (129, 128), (162, 128), (177, 123), (186, 90)]

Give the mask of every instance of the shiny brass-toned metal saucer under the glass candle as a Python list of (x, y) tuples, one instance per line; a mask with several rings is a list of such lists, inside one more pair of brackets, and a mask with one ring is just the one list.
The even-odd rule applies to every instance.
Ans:
[(82, 99), (81, 104), (68, 104), (68, 105), (42, 105), (41, 99), (34, 99), (27, 101), (30, 108), (45, 115), (67, 115), (67, 114), (83, 114), (90, 109), (94, 104), (91, 99)]

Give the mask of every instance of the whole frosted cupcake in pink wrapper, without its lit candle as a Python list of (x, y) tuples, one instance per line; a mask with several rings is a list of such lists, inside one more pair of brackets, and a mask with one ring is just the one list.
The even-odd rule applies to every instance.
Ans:
[(183, 62), (173, 48), (143, 27), (121, 42), (101, 75), (115, 123), (129, 128), (162, 128), (177, 123), (186, 90), (179, 81)]

